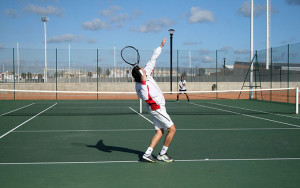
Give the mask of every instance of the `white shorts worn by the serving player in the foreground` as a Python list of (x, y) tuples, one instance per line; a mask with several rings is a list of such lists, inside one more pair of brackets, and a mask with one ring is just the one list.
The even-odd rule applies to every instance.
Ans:
[(155, 111), (149, 110), (149, 113), (152, 116), (155, 130), (168, 129), (174, 125), (164, 106), (160, 106), (160, 109)]

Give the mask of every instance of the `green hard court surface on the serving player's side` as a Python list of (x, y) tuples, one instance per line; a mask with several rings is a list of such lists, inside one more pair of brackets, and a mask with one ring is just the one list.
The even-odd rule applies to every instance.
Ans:
[(300, 186), (295, 104), (167, 101), (175, 162), (153, 164), (140, 160), (154, 131), (137, 100), (0, 105), (1, 187)]

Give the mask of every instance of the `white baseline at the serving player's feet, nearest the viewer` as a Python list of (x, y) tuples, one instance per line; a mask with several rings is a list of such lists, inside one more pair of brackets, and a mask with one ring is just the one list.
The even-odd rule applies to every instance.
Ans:
[[(300, 160), (300, 158), (249, 158), (249, 159), (207, 159), (206, 158), (206, 159), (175, 160), (175, 162), (291, 161), (291, 160)], [(138, 163), (138, 162), (143, 162), (143, 161), (27, 162), (27, 163), (0, 163), (0, 165), (66, 165), (66, 164), (111, 164), (111, 163)]]

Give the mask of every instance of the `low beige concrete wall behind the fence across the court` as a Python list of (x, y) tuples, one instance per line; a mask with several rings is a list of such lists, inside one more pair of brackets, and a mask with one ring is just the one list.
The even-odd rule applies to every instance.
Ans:
[[(188, 91), (211, 91), (212, 85), (215, 82), (188, 82)], [(245, 85), (248, 85), (246, 83)], [(158, 82), (162, 91), (170, 91), (169, 82)], [(239, 90), (242, 88), (243, 82), (218, 82), (218, 90)], [(286, 88), (287, 83), (273, 82), (272, 88)], [(290, 88), (300, 87), (300, 82), (290, 82)], [(0, 89), (13, 89), (12, 83), (0, 83)], [(15, 88), (18, 90), (50, 90), (55, 91), (55, 83), (16, 83)], [(262, 88), (271, 88), (269, 82), (262, 82)], [(244, 87), (244, 90), (249, 89)], [(58, 83), (58, 91), (97, 91), (97, 83)], [(172, 91), (177, 91), (176, 82), (172, 84)], [(132, 82), (104, 82), (99, 83), (99, 91), (114, 91), (114, 92), (134, 92), (135, 83)]]

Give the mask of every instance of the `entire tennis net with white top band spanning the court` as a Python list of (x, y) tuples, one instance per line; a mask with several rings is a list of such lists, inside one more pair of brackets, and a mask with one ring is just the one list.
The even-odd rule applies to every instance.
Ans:
[[(190, 101), (187, 100), (188, 95)], [(254, 109), (245, 113), (298, 113), (297, 88), (163, 92), (169, 114), (226, 114), (216, 107)], [(179, 95), (179, 96), (178, 96)], [(177, 96), (179, 102), (177, 102)], [(251, 97), (252, 96), (252, 97)], [(147, 105), (135, 92), (45, 91), (0, 89), (1, 101), (58, 103), (52, 115), (147, 113)], [(2, 102), (3, 103), (3, 102)], [(59, 108), (58, 108), (59, 107)]]

